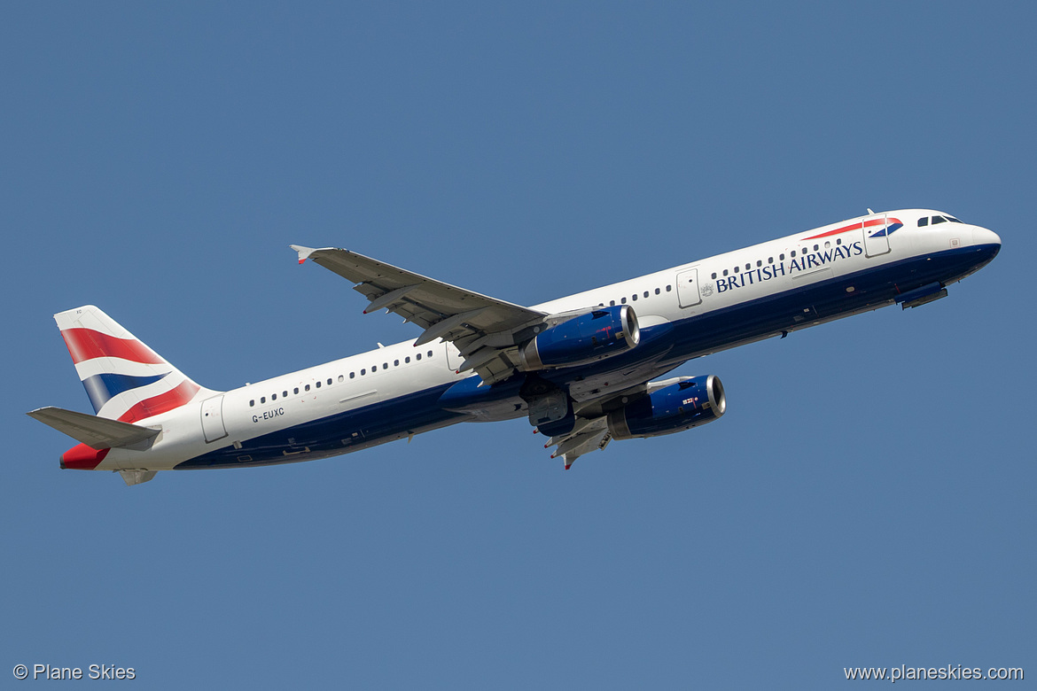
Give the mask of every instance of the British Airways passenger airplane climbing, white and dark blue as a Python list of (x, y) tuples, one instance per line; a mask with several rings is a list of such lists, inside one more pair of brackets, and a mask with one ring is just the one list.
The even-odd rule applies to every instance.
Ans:
[(689, 359), (854, 314), (920, 307), (989, 263), (1001, 238), (931, 209), (873, 212), (523, 307), (348, 250), (291, 246), (413, 341), (240, 388), (193, 381), (93, 306), (54, 315), (95, 414), (30, 416), (80, 443), (62, 468), (138, 485), (162, 470), (352, 453), (461, 422), (526, 416), (568, 469), (613, 439), (720, 419), (716, 375), (658, 379)]

